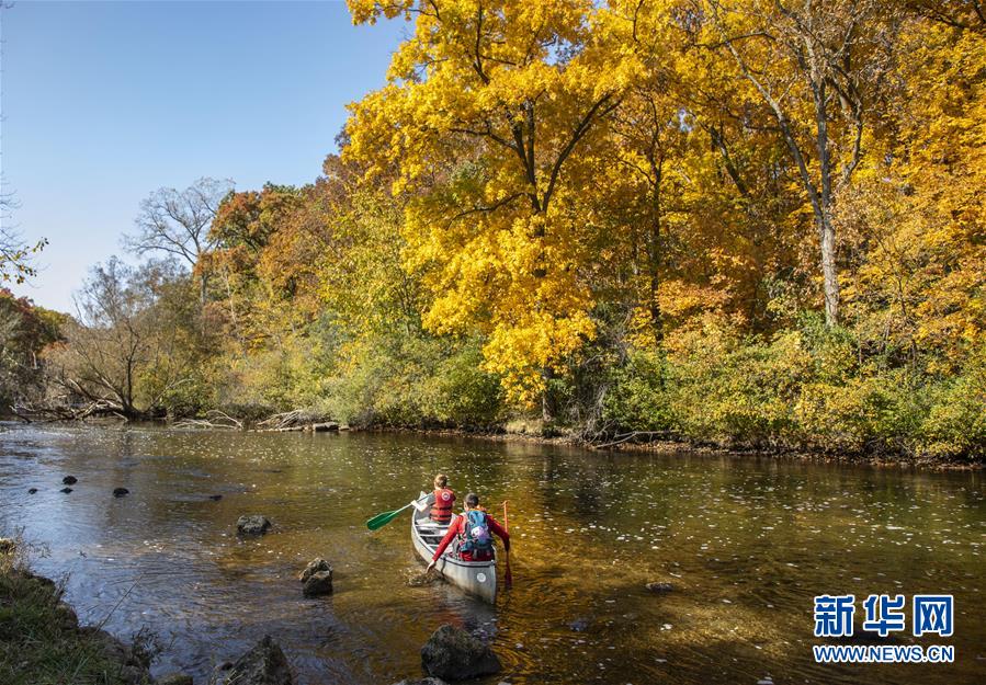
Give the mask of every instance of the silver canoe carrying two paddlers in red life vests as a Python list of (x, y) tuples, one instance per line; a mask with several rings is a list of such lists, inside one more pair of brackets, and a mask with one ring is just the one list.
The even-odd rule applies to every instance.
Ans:
[[(417, 500), (418, 505), (411, 509), (411, 541), (415, 551), (426, 562), (431, 562), (434, 550), (445, 536), (449, 526), (431, 521), (428, 515), (434, 503), (434, 494), (423, 492)], [(497, 601), (497, 559), (496, 551), (490, 561), (461, 561), (452, 555), (452, 545), (442, 555), (434, 568), (453, 585), (468, 594), (490, 604)]]

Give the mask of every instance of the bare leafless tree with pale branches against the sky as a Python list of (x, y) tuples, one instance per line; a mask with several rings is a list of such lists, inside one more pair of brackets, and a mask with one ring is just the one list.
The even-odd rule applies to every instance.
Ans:
[[(199, 259), (215, 247), (209, 226), (219, 203), (233, 190), (231, 181), (199, 179), (183, 191), (158, 189), (140, 203), (135, 221), (137, 233), (125, 236), (124, 246), (138, 255), (165, 252), (194, 269)], [(202, 304), (208, 296), (208, 273), (199, 273)]]

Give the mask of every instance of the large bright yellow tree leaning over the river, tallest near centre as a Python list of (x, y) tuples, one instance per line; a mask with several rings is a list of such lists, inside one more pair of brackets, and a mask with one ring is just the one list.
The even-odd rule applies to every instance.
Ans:
[(396, 169), (395, 191), (412, 198), (403, 233), (406, 264), (426, 272), (434, 296), (424, 326), (483, 331), (487, 367), (514, 397), (540, 397), (551, 419), (555, 368), (593, 335), (579, 165), (633, 56), (594, 36), (599, 12), (587, 0), (350, 9), (356, 23), (416, 16), (388, 84), (352, 105), (343, 156), (367, 175)]

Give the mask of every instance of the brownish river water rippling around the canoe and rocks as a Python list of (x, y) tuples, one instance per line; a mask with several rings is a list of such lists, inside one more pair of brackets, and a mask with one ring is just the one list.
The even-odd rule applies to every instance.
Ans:
[[(204, 683), (269, 633), (303, 685), (386, 685), (419, 675), (421, 644), (452, 623), (492, 640), (505, 670), (483, 684), (986, 682), (978, 472), (394, 434), (2, 431), (0, 535), (38, 547), (33, 567), (65, 579), (83, 621), (154, 631), (157, 674)], [(496, 606), (409, 583), (422, 566), (408, 518), (363, 525), (438, 471), (494, 513), (510, 502), (514, 583)], [(79, 482), (63, 494), (67, 475)], [(131, 494), (114, 499), (117, 487)], [(274, 529), (238, 539), (246, 513)], [(305, 600), (296, 575), (317, 556), (336, 592)], [(952, 644), (955, 663), (816, 664), (825, 593), (857, 596), (850, 642)], [(913, 638), (909, 619), (883, 641), (860, 633), (871, 593), (908, 606), (951, 593), (954, 635)]]

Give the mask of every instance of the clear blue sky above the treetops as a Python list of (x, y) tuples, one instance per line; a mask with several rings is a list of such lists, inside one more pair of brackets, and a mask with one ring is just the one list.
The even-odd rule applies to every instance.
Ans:
[(353, 26), (341, 1), (20, 0), (0, 21), (4, 228), (49, 241), (8, 287), (68, 312), (155, 190), (313, 181), (408, 32)]

